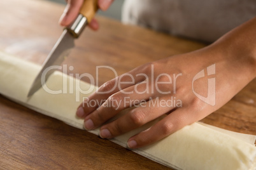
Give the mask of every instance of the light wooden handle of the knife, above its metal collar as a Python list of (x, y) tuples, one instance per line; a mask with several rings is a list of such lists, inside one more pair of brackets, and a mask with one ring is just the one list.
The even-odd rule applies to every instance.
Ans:
[(90, 23), (98, 9), (98, 0), (85, 0), (82, 8), (80, 9), (80, 13), (85, 16), (87, 18), (87, 22)]

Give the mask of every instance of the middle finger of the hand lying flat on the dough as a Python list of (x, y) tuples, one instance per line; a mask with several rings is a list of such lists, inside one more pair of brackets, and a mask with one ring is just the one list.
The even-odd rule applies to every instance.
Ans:
[[(147, 84), (145, 83), (138, 85), (138, 90), (144, 90), (145, 88), (147, 88)], [(141, 100), (146, 102), (146, 100), (151, 96), (150, 93), (146, 93), (145, 95), (139, 95), (138, 93), (124, 94), (125, 92), (131, 92), (132, 90), (134, 90), (134, 86), (110, 96), (110, 98), (108, 98), (101, 107), (94, 110), (92, 114), (89, 114), (85, 118), (85, 129), (95, 129), (117, 115), (121, 110), (139, 104)]]

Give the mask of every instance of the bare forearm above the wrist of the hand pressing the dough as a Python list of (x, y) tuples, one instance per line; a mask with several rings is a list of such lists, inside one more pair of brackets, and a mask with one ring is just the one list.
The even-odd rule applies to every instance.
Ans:
[(247, 77), (256, 77), (256, 17), (222, 36), (213, 46)]

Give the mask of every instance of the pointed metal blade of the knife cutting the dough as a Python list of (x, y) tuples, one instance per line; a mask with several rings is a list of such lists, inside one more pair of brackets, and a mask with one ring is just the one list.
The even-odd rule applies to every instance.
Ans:
[(55, 71), (54, 69), (51, 69), (46, 72), (45, 81), (41, 82), (41, 77), (45, 69), (53, 65), (59, 66), (64, 61), (65, 57), (68, 56), (69, 52), (74, 46), (74, 37), (71, 36), (68, 30), (65, 29), (56, 44), (53, 46), (52, 51), (50, 51), (50, 54), (47, 56), (45, 62), (43, 63), (43, 68), (36, 76), (36, 79), (34, 80), (27, 97), (32, 96), (36, 91), (38, 91), (38, 89), (40, 89), (43, 84), (45, 84), (48, 77), (50, 77), (50, 75)]

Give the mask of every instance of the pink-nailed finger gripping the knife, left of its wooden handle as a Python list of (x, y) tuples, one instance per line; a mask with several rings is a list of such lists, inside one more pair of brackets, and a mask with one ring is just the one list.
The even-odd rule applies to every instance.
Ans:
[(68, 26), (71, 24), (75, 20), (76, 16), (78, 16), (82, 4), (83, 0), (69, 0), (63, 14), (60, 16), (60, 25)]

